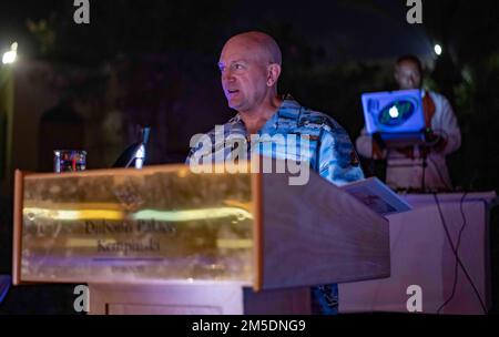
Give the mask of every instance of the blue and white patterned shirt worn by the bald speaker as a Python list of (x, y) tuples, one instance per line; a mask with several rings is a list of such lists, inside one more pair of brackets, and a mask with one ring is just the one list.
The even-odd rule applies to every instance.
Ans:
[[(234, 150), (230, 145), (232, 144), (231, 140), (238, 139), (246, 141), (248, 139), (246, 127), (240, 114), (231, 119), (223, 126), (223, 130), (215, 129), (204, 135), (206, 137), (205, 140), (212, 144), (208, 151), (206, 149), (204, 150), (204, 155), (211, 156), (208, 161), (216, 162), (217, 154), (220, 155), (218, 160), (227, 157)], [(223, 132), (223, 134), (216, 134), (216, 132)], [(309, 151), (306, 153), (307, 157), (305, 160), (309, 162), (310, 167), (318, 172), (320, 176), (336, 185), (364, 178), (357, 154), (346, 131), (328, 115), (302, 106), (291, 95), (284, 98), (277, 112), (263, 125), (258, 134), (269, 135), (271, 137), (278, 134), (296, 134), (298, 140), (297, 146), (299, 146), (301, 136), (308, 135)], [(197, 146), (191, 150), (187, 163), (194, 153), (201, 150), (200, 147)], [(255, 151), (258, 154), (274, 159), (295, 160), (286, 152), (286, 147), (279, 144), (272, 147), (249, 144), (247, 146), (247, 157), (252, 153), (255, 154)], [(294, 153), (301, 152), (295, 151)], [(313, 287), (312, 294), (315, 313), (337, 313), (337, 285)]]

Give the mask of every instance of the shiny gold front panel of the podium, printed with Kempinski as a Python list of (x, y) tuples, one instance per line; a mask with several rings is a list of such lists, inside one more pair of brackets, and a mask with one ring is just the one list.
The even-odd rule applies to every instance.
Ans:
[(253, 283), (251, 174), (17, 174), (17, 283)]

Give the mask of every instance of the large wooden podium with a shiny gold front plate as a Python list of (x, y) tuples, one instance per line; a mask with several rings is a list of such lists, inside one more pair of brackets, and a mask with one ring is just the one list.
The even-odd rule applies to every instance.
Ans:
[(17, 171), (13, 284), (89, 284), (90, 314), (308, 314), (313, 285), (388, 277), (388, 221), (289, 177)]

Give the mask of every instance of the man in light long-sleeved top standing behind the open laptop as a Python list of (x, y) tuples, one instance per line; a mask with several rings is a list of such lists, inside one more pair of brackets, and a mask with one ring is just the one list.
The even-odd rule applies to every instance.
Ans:
[[(421, 89), (422, 67), (415, 55), (400, 57), (394, 75), (400, 90)], [(426, 144), (387, 149), (366, 127), (356, 140), (358, 153), (371, 160), (386, 160), (386, 183), (394, 190), (452, 190), (446, 155), (461, 144), (461, 133), (449, 101), (441, 94), (421, 90)]]

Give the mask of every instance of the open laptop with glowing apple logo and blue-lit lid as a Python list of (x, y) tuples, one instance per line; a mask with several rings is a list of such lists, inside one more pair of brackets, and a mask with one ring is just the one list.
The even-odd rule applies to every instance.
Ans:
[(425, 142), (425, 114), (419, 89), (364, 93), (366, 131), (379, 133), (387, 146)]

